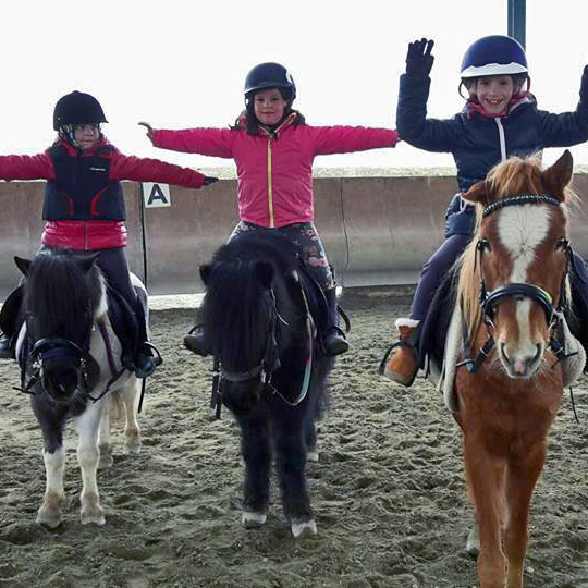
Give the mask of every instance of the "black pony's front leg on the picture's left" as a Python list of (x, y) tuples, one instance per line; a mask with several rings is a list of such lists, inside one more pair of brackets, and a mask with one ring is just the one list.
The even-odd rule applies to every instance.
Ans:
[(266, 418), (240, 419), (241, 451), (245, 462), (244, 502), (241, 524), (245, 528), (266, 523), (269, 504), (271, 451)]

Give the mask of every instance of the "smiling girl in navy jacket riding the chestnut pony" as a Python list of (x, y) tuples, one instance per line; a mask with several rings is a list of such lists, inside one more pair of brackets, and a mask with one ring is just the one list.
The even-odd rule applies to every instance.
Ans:
[[(432, 40), (408, 45), (406, 73), (400, 79), (396, 127), (400, 138), (428, 151), (451, 152), (457, 167), (457, 193), (445, 213), (445, 241), (425, 264), (408, 318), (396, 320), (399, 342), (385, 375), (411, 385), (417, 372), (414, 345), (442, 278), (465, 249), (476, 223), (475, 207), (462, 199), (473, 184), (509, 157), (527, 157), (544, 147), (568, 147), (588, 139), (588, 66), (574, 112), (554, 114), (537, 108), (529, 94), (527, 59), (513, 38), (492, 35), (475, 41), (462, 62), (468, 98), (452, 119), (427, 118)], [(462, 87), (462, 86), (461, 86)], [(584, 272), (584, 261), (575, 260)]]

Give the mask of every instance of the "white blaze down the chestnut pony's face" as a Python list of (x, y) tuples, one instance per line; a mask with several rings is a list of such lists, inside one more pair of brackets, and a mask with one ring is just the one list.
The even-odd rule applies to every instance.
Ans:
[[(547, 206), (513, 206), (502, 210), (498, 230), (499, 237), (509, 250), (513, 269), (510, 282), (529, 282), (528, 269), (536, 260), (536, 249), (549, 233), (551, 213)], [(515, 372), (523, 373), (525, 364), (537, 354), (537, 342), (531, 338), (529, 298), (516, 301), (518, 343), (506, 346)]]

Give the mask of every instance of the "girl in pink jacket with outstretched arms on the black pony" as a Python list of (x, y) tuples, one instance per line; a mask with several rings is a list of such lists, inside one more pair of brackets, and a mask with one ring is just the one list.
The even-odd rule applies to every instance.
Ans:
[[(293, 241), (309, 273), (322, 286), (330, 308), (323, 335), (328, 355), (348, 348), (338, 327), (335, 283), (314, 224), (313, 160), (318, 155), (394, 147), (395, 131), (362, 126), (310, 126), (292, 109), (296, 86), (279, 63), (256, 65), (245, 79), (245, 110), (231, 128), (155, 130), (156, 147), (234, 159), (240, 222), (230, 240), (245, 231), (272, 229)], [(206, 355), (203, 333), (187, 335), (186, 347)]]

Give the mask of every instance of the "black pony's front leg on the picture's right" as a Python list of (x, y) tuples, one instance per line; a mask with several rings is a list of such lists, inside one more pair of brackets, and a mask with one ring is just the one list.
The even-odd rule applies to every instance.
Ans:
[[(295, 421), (296, 416), (292, 418)], [(306, 442), (304, 424), (295, 422), (277, 426), (277, 453), (282, 503), (290, 522), (292, 535), (299, 537), (305, 532), (315, 535), (317, 525), (306, 490)]]

